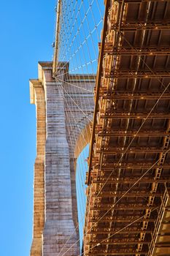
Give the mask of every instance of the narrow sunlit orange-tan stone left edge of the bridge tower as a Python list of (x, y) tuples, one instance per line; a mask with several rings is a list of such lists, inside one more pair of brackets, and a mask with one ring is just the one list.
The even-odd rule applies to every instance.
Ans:
[(31, 103), (36, 105), (36, 161), (34, 164), (34, 227), (31, 256), (42, 255), (45, 222), (45, 91), (39, 80), (30, 81)]

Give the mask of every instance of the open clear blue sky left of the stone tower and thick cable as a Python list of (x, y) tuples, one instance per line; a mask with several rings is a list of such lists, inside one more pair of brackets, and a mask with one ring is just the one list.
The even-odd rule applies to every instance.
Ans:
[(28, 80), (52, 59), (54, 25), (54, 0), (1, 1), (0, 256), (29, 255), (36, 120)]

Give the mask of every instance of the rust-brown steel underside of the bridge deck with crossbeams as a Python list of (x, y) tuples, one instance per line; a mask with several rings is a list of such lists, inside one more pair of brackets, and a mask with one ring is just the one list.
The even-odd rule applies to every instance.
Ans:
[(170, 255), (169, 27), (169, 1), (109, 7), (85, 255)]

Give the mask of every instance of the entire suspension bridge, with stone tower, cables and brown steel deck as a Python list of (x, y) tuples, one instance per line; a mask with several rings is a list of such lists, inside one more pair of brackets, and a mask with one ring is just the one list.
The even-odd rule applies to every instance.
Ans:
[(53, 61), (30, 80), (31, 256), (170, 256), (170, 1), (55, 12)]

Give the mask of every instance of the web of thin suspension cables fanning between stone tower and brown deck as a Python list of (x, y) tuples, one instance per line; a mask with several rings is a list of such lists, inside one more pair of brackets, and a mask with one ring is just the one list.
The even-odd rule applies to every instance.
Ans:
[[(71, 154), (74, 157), (74, 146), (77, 143), (78, 135), (82, 137), (84, 145), (90, 142), (90, 135), (86, 127), (91, 124), (93, 119), (93, 87), (96, 80), (98, 42), (100, 42), (103, 26), (104, 3), (99, 4), (98, 0), (58, 0), (58, 4), (60, 4), (60, 15), (58, 40), (55, 42), (57, 55), (55, 56), (55, 78), (63, 91), (66, 106), (66, 128), (69, 133)], [(82, 133), (84, 129), (85, 132)], [(77, 148), (78, 151), (81, 150), (79, 145)], [(87, 157), (88, 147), (85, 148), (85, 152), (82, 151), (77, 160), (80, 237), (82, 237), (85, 219)], [(66, 244), (60, 254), (64, 252)]]

